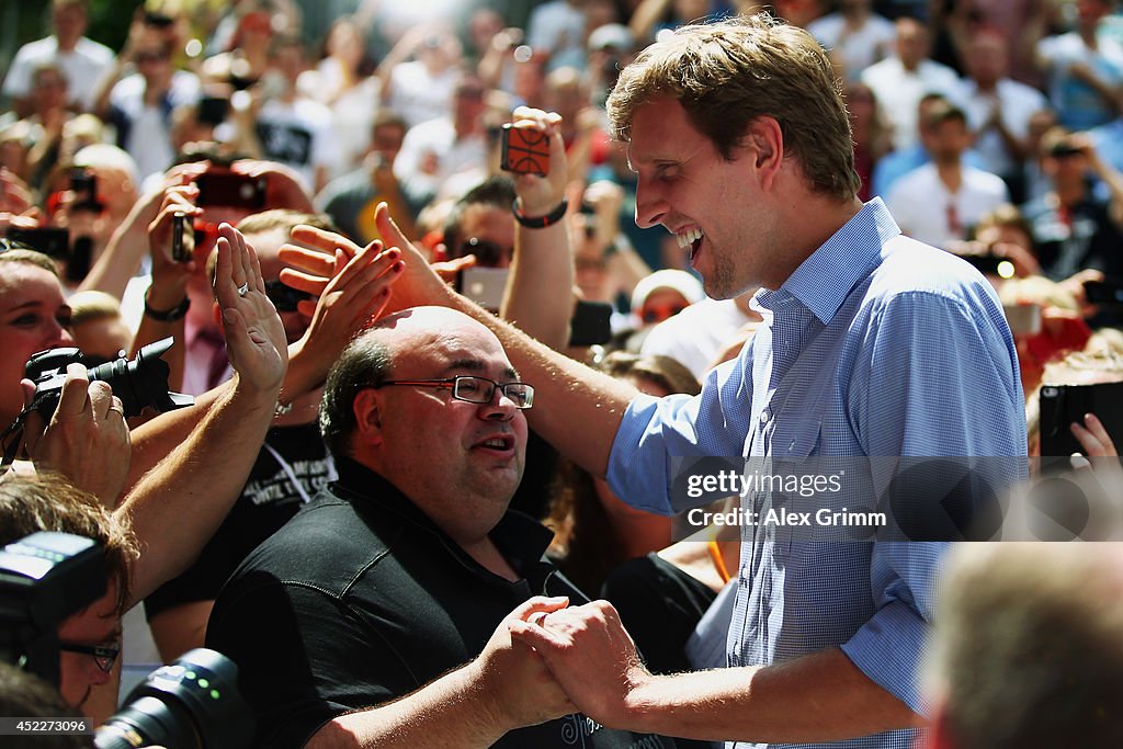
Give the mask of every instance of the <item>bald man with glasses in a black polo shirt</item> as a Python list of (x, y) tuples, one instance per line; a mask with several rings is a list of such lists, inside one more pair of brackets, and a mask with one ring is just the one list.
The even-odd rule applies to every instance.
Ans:
[(257, 746), (674, 746), (574, 714), (510, 639), (515, 616), (583, 597), (544, 560), (549, 531), (508, 509), (533, 399), (448, 309), (385, 318), (343, 354), (320, 407), (339, 481), (247, 558), (208, 629)]

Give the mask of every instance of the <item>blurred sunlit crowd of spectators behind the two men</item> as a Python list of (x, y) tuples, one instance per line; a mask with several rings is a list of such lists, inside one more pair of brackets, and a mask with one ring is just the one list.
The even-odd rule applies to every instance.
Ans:
[[(1123, 382), (1123, 13), (1107, 0), (7, 2), (0, 245), (48, 255), (56, 280), (12, 281), (13, 264), (0, 264), (0, 418), (22, 408), (24, 363), (53, 346), (112, 359), (172, 334), (172, 390), (198, 395), (229, 378), (206, 267), (223, 221), (257, 248), (290, 344), (316, 300), (281, 282), (289, 231), (312, 225), (365, 246), (382, 201), (450, 282), (496, 271), (477, 283), (500, 310), (517, 231), (500, 136), (520, 106), (560, 115), (566, 146), (568, 250), (585, 304), (570, 346), (556, 347), (645, 392), (696, 393), (759, 322), (751, 292), (705, 298), (676, 237), (636, 226), (636, 180), (604, 101), (660, 34), (758, 9), (830, 51), (862, 199), (880, 197), (905, 234), (962, 255), (996, 286), (1032, 455), (1042, 385)], [(35, 283), (54, 285), (20, 321), (9, 302)], [(226, 576), (334, 477), (318, 403), (310, 389), (285, 404), (207, 552), (149, 597), (159, 656), (133, 660), (201, 643)], [(1111, 427), (1092, 418), (1075, 429), (1079, 451), (1115, 455)], [(554, 527), (551, 554), (586, 593), (672, 542), (673, 521), (556, 466), (545, 442), (530, 449), (513, 506)], [(149, 466), (134, 465), (130, 482)], [(736, 577), (736, 539), (722, 542), (661, 557), (692, 570), (705, 605)]]

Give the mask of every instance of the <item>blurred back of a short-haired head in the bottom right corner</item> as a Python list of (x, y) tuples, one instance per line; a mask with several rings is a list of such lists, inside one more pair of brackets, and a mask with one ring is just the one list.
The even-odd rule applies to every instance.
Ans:
[(941, 581), (932, 746), (1123, 746), (1123, 550), (965, 544)]

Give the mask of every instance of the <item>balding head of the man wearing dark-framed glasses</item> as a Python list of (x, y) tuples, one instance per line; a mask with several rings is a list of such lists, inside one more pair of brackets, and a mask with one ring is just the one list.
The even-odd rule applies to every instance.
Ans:
[(487, 328), (414, 308), (347, 347), (328, 375), (320, 427), (334, 453), (385, 478), (469, 548), (522, 479), (532, 395)]

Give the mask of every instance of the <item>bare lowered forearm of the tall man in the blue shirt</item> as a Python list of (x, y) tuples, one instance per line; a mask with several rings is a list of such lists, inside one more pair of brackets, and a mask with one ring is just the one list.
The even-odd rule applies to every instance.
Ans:
[(712, 741), (810, 743), (921, 727), (924, 719), (841, 650), (785, 664), (656, 676), (631, 691), (626, 725)]

